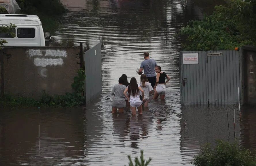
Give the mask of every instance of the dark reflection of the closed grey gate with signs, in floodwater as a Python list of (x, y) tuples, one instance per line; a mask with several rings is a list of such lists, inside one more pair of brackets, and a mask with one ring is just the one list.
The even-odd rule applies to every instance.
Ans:
[[(234, 131), (234, 109), (236, 128)], [(216, 140), (234, 142), (239, 139), (239, 112), (236, 106), (186, 106), (182, 108), (181, 155), (193, 156), (205, 143), (215, 145)]]

